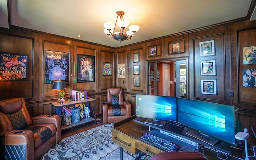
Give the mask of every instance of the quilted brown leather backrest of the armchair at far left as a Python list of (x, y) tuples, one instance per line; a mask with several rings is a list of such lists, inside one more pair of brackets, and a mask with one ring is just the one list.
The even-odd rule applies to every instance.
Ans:
[(24, 98), (0, 101), (0, 131), (22, 130), (32, 125)]

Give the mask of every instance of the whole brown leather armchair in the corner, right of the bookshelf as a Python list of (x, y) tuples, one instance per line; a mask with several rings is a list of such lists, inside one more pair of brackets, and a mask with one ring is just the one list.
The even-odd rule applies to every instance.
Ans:
[(123, 101), (122, 88), (108, 88), (107, 102), (103, 104), (103, 124), (116, 123), (131, 117), (131, 104)]

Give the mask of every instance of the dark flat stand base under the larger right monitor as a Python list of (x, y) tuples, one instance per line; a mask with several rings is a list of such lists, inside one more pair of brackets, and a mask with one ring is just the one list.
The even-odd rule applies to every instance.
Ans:
[(217, 138), (214, 138), (212, 136), (200, 133), (200, 132), (198, 132), (196, 130), (190, 130), (190, 131), (186, 132), (186, 134), (188, 134), (188, 135), (190, 135), (190, 136), (192, 136), (194, 138), (197, 138), (199, 140), (202, 140), (203, 142), (206, 142), (207, 144), (210, 144), (212, 146), (214, 146), (217, 142), (220, 141)]

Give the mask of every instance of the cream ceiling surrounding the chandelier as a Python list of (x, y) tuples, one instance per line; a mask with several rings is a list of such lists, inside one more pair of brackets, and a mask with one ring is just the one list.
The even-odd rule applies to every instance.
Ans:
[[(252, 0), (12, 0), (11, 25), (120, 47), (104, 34), (116, 11), (140, 30), (128, 45), (204, 26), (244, 18)], [(120, 19), (119, 19), (120, 20)], [(79, 38), (77, 35), (82, 35)]]

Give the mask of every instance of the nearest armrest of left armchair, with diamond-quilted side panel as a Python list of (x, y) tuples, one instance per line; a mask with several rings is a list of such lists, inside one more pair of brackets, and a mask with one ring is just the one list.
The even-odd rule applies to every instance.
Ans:
[(20, 150), (16, 158), (26, 156), (27, 160), (34, 160), (34, 134), (30, 130), (0, 132), (0, 148), (0, 155), (9, 157), (12, 151)]

